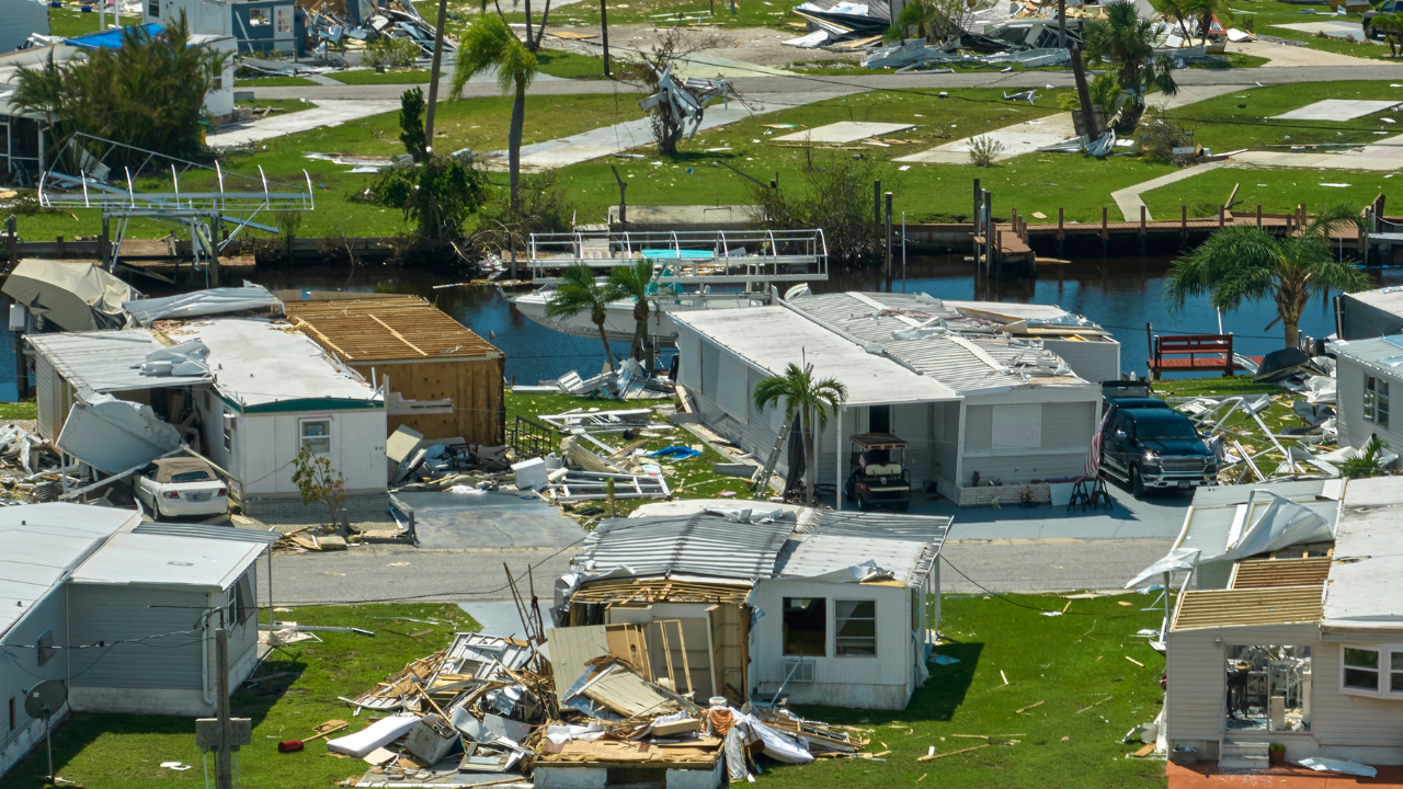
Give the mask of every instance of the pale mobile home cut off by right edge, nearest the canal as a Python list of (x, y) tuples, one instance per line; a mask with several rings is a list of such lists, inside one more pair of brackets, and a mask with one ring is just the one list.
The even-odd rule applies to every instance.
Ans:
[(1389, 413), (1390, 397), (1403, 397), (1403, 334), (1337, 341), (1331, 347), (1340, 444), (1364, 448), (1378, 435), (1395, 448), (1403, 446), (1403, 424)]

